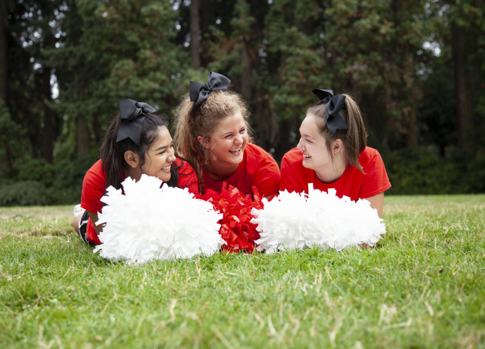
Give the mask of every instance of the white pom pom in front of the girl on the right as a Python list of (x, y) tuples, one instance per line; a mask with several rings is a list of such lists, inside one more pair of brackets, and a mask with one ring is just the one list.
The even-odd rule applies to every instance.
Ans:
[(263, 199), (262, 210), (253, 209), (260, 238), (258, 251), (273, 253), (283, 249), (319, 246), (338, 251), (359, 244), (374, 245), (386, 233), (386, 225), (369, 201), (357, 202), (314, 190), (308, 195), (283, 191), (272, 201)]

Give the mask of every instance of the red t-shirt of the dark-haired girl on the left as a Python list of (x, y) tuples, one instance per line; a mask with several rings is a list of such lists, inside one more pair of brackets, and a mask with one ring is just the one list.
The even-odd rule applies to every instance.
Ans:
[[(185, 160), (177, 158), (178, 188), (188, 188), (194, 195), (199, 194), (197, 175), (192, 166)], [(123, 175), (123, 179), (125, 176)], [(93, 213), (102, 211), (104, 204), (101, 198), (106, 191), (106, 178), (104, 176), (102, 160), (99, 159), (84, 175), (82, 181), (81, 207)], [(93, 222), (89, 219), (86, 236), (91, 243), (100, 244)]]

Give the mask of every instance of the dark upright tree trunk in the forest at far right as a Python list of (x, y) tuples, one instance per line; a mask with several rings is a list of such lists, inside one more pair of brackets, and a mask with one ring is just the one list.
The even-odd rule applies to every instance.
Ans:
[(452, 23), (452, 51), (456, 94), (456, 117), (458, 119), (458, 147), (468, 149), (470, 140), (468, 132), (471, 129), (471, 105), (469, 103), (465, 60), (463, 58), (462, 35), (455, 22)]

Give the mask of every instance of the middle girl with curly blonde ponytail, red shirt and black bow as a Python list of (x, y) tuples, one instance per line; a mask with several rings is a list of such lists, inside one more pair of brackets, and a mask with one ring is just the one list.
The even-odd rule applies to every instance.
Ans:
[(199, 189), (220, 192), (224, 183), (244, 194), (273, 196), (279, 190), (276, 161), (251, 143), (249, 111), (240, 95), (228, 91), (230, 80), (210, 72), (208, 83), (190, 82), (189, 94), (176, 111), (176, 149), (188, 159), (199, 178)]

